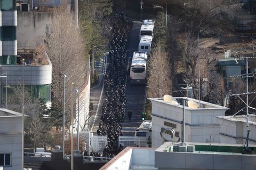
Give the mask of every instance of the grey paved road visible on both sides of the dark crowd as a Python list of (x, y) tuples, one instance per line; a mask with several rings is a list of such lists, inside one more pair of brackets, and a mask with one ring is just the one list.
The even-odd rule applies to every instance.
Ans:
[[(139, 45), (139, 31), (140, 23), (133, 21), (133, 29), (129, 39), (127, 47), (127, 55), (129, 56), (128, 66), (131, 65), (131, 58), (134, 51), (138, 51)], [(100, 81), (99, 84), (91, 88), (90, 102), (93, 103), (93, 110), (91, 111), (92, 117), (89, 120), (89, 126), (92, 132), (96, 134), (99, 127), (99, 121), (102, 111), (102, 103), (105, 99), (103, 92), (103, 79), (106, 72), (108, 59), (106, 56), (102, 56), (99, 61), (95, 61), (95, 70), (98, 70)], [(127, 67), (128, 67), (127, 66)], [(123, 130), (124, 135), (134, 135), (134, 131), (141, 124), (141, 112), (145, 107), (145, 85), (131, 85), (129, 81), (130, 77), (126, 77), (126, 115), (124, 119)], [(127, 112), (132, 111), (131, 121), (127, 117)]]

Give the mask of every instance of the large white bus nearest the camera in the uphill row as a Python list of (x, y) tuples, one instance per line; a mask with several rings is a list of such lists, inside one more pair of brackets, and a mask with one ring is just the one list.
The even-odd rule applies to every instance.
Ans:
[(130, 68), (130, 82), (131, 84), (146, 84), (147, 78), (147, 53), (134, 52), (132, 64)]

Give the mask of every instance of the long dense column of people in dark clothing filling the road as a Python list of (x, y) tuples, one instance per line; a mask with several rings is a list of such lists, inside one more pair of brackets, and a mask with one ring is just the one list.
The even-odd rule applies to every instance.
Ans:
[(104, 80), (106, 99), (103, 103), (98, 135), (108, 136), (108, 144), (103, 150), (103, 157), (111, 157), (119, 152), (118, 137), (122, 134), (126, 109), (126, 64), (127, 39), (132, 30), (132, 21), (123, 13), (117, 14), (113, 21), (110, 40), (109, 66)]

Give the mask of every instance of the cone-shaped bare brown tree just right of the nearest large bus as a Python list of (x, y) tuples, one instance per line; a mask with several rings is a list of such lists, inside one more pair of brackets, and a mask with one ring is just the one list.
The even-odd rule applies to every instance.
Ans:
[(157, 42), (152, 55), (147, 62), (149, 98), (162, 97), (164, 94), (172, 94), (172, 75), (167, 58), (167, 53), (161, 44)]

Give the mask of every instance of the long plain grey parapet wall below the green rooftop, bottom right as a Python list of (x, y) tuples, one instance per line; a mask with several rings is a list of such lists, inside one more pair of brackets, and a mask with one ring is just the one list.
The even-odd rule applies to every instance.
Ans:
[(221, 155), (187, 152), (155, 152), (158, 169), (251, 170), (256, 167), (253, 155)]

